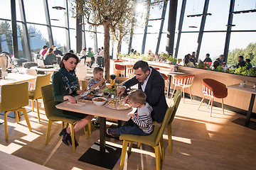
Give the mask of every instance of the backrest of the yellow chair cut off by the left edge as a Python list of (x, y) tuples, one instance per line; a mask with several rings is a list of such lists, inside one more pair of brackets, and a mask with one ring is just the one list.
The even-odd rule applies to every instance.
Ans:
[(23, 106), (28, 106), (28, 82), (1, 86), (1, 112)]

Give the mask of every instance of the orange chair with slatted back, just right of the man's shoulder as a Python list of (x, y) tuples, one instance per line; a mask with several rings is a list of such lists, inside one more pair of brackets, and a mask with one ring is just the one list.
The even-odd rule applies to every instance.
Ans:
[[(176, 75), (173, 78), (173, 84), (174, 86), (174, 91), (176, 90), (177, 86), (182, 87), (181, 92), (183, 91), (183, 103), (185, 103), (185, 88), (189, 89), (189, 94), (191, 95), (191, 86), (193, 84), (193, 79), (195, 78), (195, 75), (191, 75), (191, 74), (182, 74), (182, 75)], [(174, 92), (173, 94), (171, 94), (171, 98), (172, 96), (174, 96)], [(192, 96), (191, 96), (191, 101), (192, 101)]]

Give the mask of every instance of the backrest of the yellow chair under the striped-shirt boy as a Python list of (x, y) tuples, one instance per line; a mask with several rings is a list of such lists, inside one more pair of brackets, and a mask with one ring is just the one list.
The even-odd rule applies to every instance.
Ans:
[(169, 106), (169, 108), (167, 109), (166, 115), (164, 115), (164, 120), (161, 123), (159, 132), (156, 135), (155, 145), (158, 145), (161, 140), (161, 137), (163, 137), (164, 130), (166, 129), (166, 126), (168, 125), (169, 120), (171, 119), (171, 115), (174, 113), (174, 108), (175, 108), (175, 103), (172, 103), (171, 106)]

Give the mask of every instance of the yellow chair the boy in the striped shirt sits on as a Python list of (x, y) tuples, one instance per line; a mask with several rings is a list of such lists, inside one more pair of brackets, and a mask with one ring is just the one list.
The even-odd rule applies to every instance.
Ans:
[(148, 136), (138, 136), (138, 135), (127, 135), (122, 134), (120, 135), (119, 139), (123, 140), (122, 145), (122, 154), (120, 159), (120, 166), (119, 169), (123, 169), (124, 167), (124, 158), (125, 154), (127, 152), (127, 146), (129, 144), (128, 153), (131, 152), (132, 149), (132, 142), (138, 142), (150, 145), (151, 147), (154, 147), (155, 154), (156, 154), (156, 169), (161, 169), (161, 161), (160, 159), (164, 160), (164, 144), (163, 144), (163, 134), (166, 126), (169, 123), (169, 120), (172, 118), (172, 114), (174, 113), (175, 105), (174, 103), (169, 106), (169, 108), (166, 111), (166, 115), (164, 116), (164, 120), (161, 123), (161, 126), (154, 126), (154, 132), (151, 133), (151, 135)]

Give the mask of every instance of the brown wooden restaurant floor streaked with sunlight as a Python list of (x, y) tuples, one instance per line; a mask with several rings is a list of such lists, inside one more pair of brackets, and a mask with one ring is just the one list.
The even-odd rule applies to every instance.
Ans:
[[(41, 123), (37, 121), (36, 112), (28, 113), (32, 132), (28, 131), (23, 116), (19, 124), (14, 118), (8, 118), (9, 140), (6, 141), (4, 124), (0, 125), (0, 150), (51, 169), (102, 169), (78, 161), (99, 140), (100, 130), (92, 127), (88, 140), (82, 131), (79, 132), (79, 146), (76, 152), (72, 152), (71, 147), (64, 145), (58, 136), (61, 124), (53, 123), (50, 142), (45, 145), (48, 120), (42, 101), (40, 103)], [(213, 116), (210, 117), (206, 103), (200, 111), (196, 110), (198, 104), (198, 101), (188, 99), (186, 103), (181, 101), (172, 126), (172, 154), (168, 152), (167, 133), (164, 135), (166, 159), (162, 162), (162, 169), (256, 169), (256, 130), (232, 122), (245, 116), (230, 111), (223, 115), (220, 108), (213, 108)], [(3, 120), (0, 115), (0, 122)], [(107, 138), (107, 142), (122, 147), (119, 140)], [(155, 169), (154, 149), (146, 145), (141, 149), (136, 147), (134, 145), (124, 169)], [(114, 169), (119, 169), (119, 162)]]

